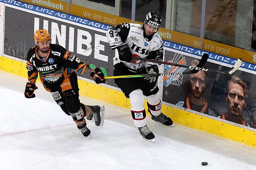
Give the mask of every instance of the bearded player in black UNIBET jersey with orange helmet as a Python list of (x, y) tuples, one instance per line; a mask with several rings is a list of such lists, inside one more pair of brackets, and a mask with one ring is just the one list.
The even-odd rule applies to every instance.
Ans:
[(94, 70), (80, 61), (75, 55), (58, 44), (51, 44), (51, 36), (47, 30), (35, 32), (35, 47), (28, 51), (27, 69), (28, 81), (25, 87), (25, 97), (34, 98), (38, 73), (40, 80), (53, 99), (76, 122), (77, 128), (84, 136), (90, 137), (85, 118), (93, 120), (96, 126), (102, 126), (104, 106), (88, 106), (80, 103), (77, 75), (75, 73), (90, 73), (97, 84), (104, 83), (104, 75), (100, 68)]

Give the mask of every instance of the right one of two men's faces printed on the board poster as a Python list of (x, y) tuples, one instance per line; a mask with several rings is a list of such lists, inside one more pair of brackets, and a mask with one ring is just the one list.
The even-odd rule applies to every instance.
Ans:
[(245, 107), (243, 87), (237, 83), (230, 82), (229, 92), (226, 97), (228, 112), (233, 116), (242, 116)]

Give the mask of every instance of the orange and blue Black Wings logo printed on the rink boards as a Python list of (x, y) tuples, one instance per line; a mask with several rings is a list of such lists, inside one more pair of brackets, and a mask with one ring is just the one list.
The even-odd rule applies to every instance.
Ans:
[[(168, 61), (168, 63), (175, 63), (180, 65), (186, 65), (185, 57), (182, 54), (176, 53), (172, 60)], [(165, 65), (164, 73), (174, 73), (174, 72), (184, 72), (186, 68), (176, 67), (173, 65)], [(164, 86), (167, 87), (170, 84), (173, 85), (181, 85), (182, 84), (183, 75), (171, 75), (164, 76)]]

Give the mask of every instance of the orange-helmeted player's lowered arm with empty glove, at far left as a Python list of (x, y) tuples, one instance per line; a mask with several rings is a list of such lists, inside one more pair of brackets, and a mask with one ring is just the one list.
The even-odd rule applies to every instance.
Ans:
[(33, 48), (28, 51), (27, 55), (27, 70), (28, 70), (28, 81), (25, 87), (24, 95), (26, 98), (34, 98), (36, 95), (34, 91), (37, 89), (36, 79), (38, 77), (38, 70), (33, 65)]

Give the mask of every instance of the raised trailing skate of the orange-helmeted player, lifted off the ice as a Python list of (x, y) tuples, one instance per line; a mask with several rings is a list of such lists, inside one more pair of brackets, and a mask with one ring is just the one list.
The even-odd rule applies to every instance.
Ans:
[[(89, 105), (84, 105), (83, 103), (81, 103), (83, 110), (87, 110), (86, 113), (86, 119), (87, 120), (92, 120), (93, 123), (95, 123), (96, 126), (103, 126), (104, 123), (104, 112), (105, 112), (105, 108), (104, 106), (89, 106)], [(89, 107), (91, 108), (92, 112), (90, 111), (90, 109), (85, 109), (85, 107)]]

